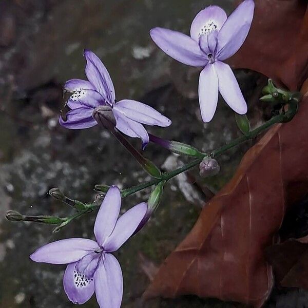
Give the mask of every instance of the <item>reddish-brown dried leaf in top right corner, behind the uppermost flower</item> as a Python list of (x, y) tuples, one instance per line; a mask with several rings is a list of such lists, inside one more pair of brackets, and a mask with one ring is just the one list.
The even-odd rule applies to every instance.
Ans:
[(229, 60), (234, 68), (258, 71), (277, 84), (299, 90), (308, 74), (306, 0), (255, 0), (251, 31)]

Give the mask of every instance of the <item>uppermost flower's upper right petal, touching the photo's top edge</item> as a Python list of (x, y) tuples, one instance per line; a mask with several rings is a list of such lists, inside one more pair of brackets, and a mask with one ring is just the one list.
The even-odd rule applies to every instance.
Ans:
[(228, 17), (218, 33), (218, 60), (228, 59), (243, 45), (252, 25), (254, 9), (254, 1), (245, 0)]

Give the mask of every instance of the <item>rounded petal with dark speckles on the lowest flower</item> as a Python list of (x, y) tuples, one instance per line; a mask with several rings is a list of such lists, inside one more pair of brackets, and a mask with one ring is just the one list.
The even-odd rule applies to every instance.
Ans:
[(94, 280), (87, 279), (76, 271), (76, 263), (67, 265), (63, 277), (64, 291), (74, 304), (84, 304), (94, 293)]

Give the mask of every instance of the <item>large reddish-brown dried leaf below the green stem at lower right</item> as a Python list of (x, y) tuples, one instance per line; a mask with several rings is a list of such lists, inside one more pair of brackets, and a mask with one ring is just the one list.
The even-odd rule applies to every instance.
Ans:
[(145, 297), (196, 294), (260, 307), (273, 273), (264, 248), (278, 239), (287, 206), (308, 192), (308, 98), (242, 159), (164, 263)]

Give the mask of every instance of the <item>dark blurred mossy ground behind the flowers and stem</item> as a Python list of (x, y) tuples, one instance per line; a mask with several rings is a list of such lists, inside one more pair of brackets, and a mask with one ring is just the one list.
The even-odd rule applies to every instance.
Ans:
[[(200, 69), (171, 60), (149, 36), (156, 26), (188, 33), (194, 16), (211, 4), (227, 13), (234, 7), (233, 0), (0, 1), (0, 307), (74, 306), (63, 290), (65, 266), (37, 264), (29, 255), (57, 239), (93, 238), (95, 219), (95, 213), (84, 215), (52, 234), (52, 226), (6, 221), (7, 210), (65, 217), (73, 210), (48, 196), (52, 187), (89, 202), (95, 198), (95, 184), (122, 188), (149, 180), (107, 131), (100, 127), (73, 131), (58, 124), (65, 103), (62, 85), (68, 79), (85, 79), (84, 48), (97, 53), (106, 65), (117, 100), (139, 100), (172, 120), (170, 127), (149, 127), (149, 132), (204, 151), (240, 136), (233, 111), (221, 99), (214, 120), (201, 121)], [(236, 74), (248, 102), (248, 117), (253, 126), (259, 125), (266, 118), (258, 102), (266, 78), (248, 70)], [(139, 140), (132, 143), (141, 146)], [(252, 144), (222, 156), (218, 176), (201, 180), (195, 170), (166, 185), (155, 216), (117, 252), (124, 275), (122, 307), (233, 307), (193, 296), (142, 302), (141, 295), (159, 264), (189, 232), (204, 201), (232, 177)], [(144, 155), (165, 170), (185, 162), (152, 144)], [(123, 209), (146, 201), (148, 194), (145, 190), (126, 198)], [(287, 296), (296, 299), (297, 307), (305, 307), (303, 291)], [(287, 302), (286, 295), (274, 291), (266, 306), (289, 307)], [(98, 305), (93, 297), (83, 306)]]

